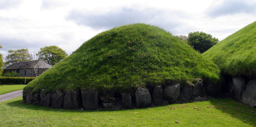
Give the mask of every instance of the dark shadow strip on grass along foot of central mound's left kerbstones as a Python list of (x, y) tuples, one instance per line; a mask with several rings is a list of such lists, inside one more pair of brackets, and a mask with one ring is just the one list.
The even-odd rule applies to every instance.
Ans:
[[(73, 113), (88, 113), (88, 112), (104, 112), (104, 111), (108, 111), (108, 112), (114, 112), (114, 111), (124, 111), (124, 110), (128, 110), (128, 109), (117, 109), (117, 110), (109, 110), (109, 109), (98, 109), (98, 110), (68, 110), (68, 109), (54, 109), (51, 107), (43, 107), (40, 105), (29, 105), (26, 103), (23, 103), (22, 99), (17, 100), (17, 101), (12, 101), (12, 102), (8, 102), (7, 103), (8, 106), (15, 106), (15, 107), (21, 107), (21, 108), (26, 108), (26, 109), (30, 109), (30, 110), (43, 110), (43, 111), (52, 111), (52, 112), (73, 112)], [(129, 109), (129, 111), (131, 110), (136, 110), (135, 109)]]

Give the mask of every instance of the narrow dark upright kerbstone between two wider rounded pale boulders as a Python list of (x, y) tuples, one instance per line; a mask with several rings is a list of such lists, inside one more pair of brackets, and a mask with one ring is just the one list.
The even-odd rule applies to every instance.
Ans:
[(162, 105), (163, 101), (163, 89), (161, 86), (155, 86), (153, 93), (152, 93), (152, 98), (154, 101), (155, 105)]

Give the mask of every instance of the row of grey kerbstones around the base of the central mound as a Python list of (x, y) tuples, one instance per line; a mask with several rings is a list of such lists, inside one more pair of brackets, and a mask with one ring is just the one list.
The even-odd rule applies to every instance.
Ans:
[[(197, 83), (193, 86), (186, 86), (183, 88), (184, 96), (187, 99), (191, 99), (191, 96), (202, 97), (205, 94), (202, 80), (197, 80)], [(155, 86), (152, 92), (152, 98), (148, 89), (137, 88), (135, 91), (135, 103), (138, 108), (150, 107), (151, 100), (154, 105), (163, 105), (166, 101), (169, 103), (176, 103), (179, 95), (180, 84), (166, 86), (164, 90), (161, 86)], [(31, 96), (31, 93), (23, 95), (23, 102), (32, 103), (33, 105), (41, 104), (44, 107), (53, 107), (56, 109), (59, 109), (62, 106), (64, 109), (79, 109), (82, 105), (86, 110), (96, 110), (98, 109), (98, 99), (102, 101), (102, 106), (104, 108), (113, 108), (116, 105), (116, 100), (113, 95), (99, 96), (98, 92), (93, 88), (82, 92), (67, 90), (65, 96), (61, 91), (45, 95), (44, 89), (41, 91), (40, 96)], [(126, 109), (133, 108), (131, 94), (122, 93), (121, 103)]]

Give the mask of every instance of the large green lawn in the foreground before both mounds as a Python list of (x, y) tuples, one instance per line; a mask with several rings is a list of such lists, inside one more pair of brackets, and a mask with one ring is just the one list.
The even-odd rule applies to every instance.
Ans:
[(0, 102), (0, 126), (252, 127), (256, 125), (255, 111), (233, 99), (144, 109), (82, 111), (27, 105), (22, 103), (22, 97), (16, 97)]

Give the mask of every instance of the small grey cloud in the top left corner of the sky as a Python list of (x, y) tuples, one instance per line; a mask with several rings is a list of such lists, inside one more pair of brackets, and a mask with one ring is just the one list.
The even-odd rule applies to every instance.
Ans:
[(15, 8), (20, 5), (23, 0), (1, 0), (0, 1), (0, 9), (9, 9)]

